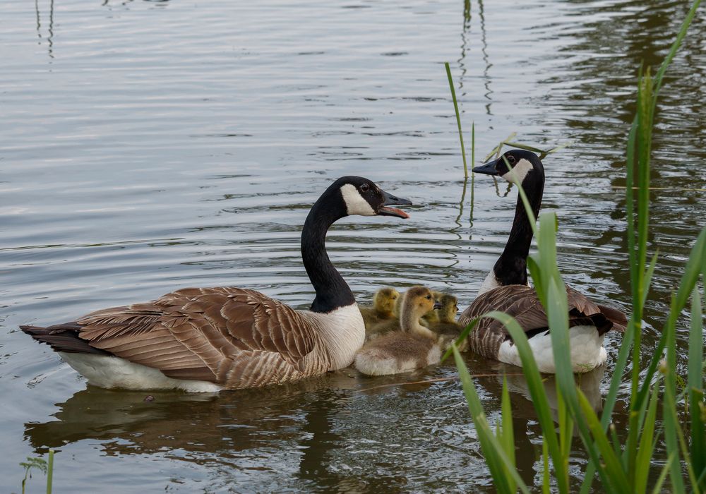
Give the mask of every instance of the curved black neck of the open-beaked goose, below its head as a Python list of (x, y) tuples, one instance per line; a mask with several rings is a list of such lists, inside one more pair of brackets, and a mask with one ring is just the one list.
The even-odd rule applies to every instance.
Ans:
[[(336, 197), (336, 194), (339, 197)], [(311, 311), (326, 313), (355, 303), (353, 292), (333, 267), (326, 253), (326, 232), (338, 219), (347, 216), (340, 190), (329, 188), (311, 207), (301, 231), (301, 258), (306, 274), (316, 290)]]

